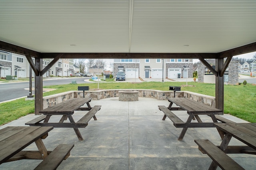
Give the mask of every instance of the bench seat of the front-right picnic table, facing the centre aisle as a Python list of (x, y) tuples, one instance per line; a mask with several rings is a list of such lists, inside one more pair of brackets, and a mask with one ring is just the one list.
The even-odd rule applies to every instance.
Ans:
[(240, 166), (236, 161), (234, 161), (232, 158), (230, 158), (220, 148), (215, 146), (211, 141), (198, 139), (198, 140), (195, 140), (195, 143), (199, 146), (199, 150), (202, 150), (203, 153), (208, 154), (208, 156), (221, 169), (223, 169), (223, 170), (244, 170), (244, 168), (242, 168), (242, 166)]

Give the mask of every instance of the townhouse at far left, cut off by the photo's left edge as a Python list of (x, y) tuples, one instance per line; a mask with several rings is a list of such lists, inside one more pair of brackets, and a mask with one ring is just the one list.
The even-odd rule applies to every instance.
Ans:
[(12, 53), (0, 50), (0, 77), (12, 75)]

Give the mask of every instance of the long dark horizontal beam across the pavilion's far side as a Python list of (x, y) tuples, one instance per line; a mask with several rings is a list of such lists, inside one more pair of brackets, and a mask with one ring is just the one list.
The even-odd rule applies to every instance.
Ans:
[[(60, 53), (41, 53), (43, 59), (53, 59)], [(218, 53), (62, 53), (62, 59), (217, 59)]]

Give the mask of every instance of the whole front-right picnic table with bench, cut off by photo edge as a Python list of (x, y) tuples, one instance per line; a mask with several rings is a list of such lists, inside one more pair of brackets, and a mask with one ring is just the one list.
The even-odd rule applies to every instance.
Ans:
[[(199, 149), (212, 158), (209, 169), (214, 170), (217, 166), (222, 169), (244, 169), (231, 159), (227, 154), (256, 154), (256, 123), (214, 123), (223, 133), (224, 139), (220, 146), (215, 146), (208, 140), (195, 140)], [(245, 145), (228, 146), (232, 137)], [(255, 166), (255, 165), (254, 165)]]

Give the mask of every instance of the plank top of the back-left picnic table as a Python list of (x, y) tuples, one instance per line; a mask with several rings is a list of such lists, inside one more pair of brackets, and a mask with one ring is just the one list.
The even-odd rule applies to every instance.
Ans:
[(87, 102), (90, 102), (92, 98), (73, 98), (70, 100), (66, 100), (54, 106), (48, 107), (44, 110), (39, 111), (39, 113), (72, 113), (74, 110), (78, 109), (79, 107), (83, 106)]

